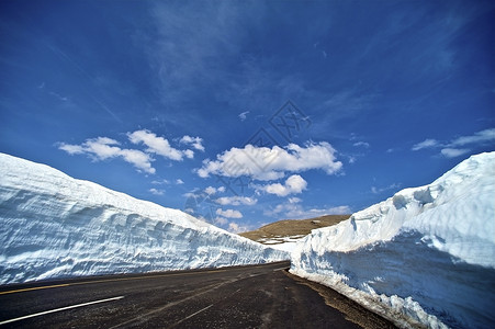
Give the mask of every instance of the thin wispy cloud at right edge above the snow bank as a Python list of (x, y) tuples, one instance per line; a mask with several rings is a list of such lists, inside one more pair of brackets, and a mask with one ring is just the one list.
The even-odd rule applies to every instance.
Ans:
[[(441, 148), (440, 154), (446, 158), (455, 158), (471, 151), (469, 146), (476, 147), (495, 141), (495, 128), (484, 129), (473, 135), (460, 136), (450, 141), (441, 143), (436, 139), (425, 139), (413, 146), (417, 151), (426, 148)], [(468, 146), (468, 147), (466, 147)]]

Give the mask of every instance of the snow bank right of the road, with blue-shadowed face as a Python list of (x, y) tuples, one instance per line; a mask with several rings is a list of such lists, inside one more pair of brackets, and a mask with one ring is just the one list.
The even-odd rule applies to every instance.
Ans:
[(313, 230), (291, 272), (401, 327), (495, 326), (495, 152)]

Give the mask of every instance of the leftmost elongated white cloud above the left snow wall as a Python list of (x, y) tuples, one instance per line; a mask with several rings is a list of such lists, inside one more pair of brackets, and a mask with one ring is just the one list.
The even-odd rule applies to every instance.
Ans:
[(132, 163), (137, 170), (147, 173), (155, 173), (151, 167), (151, 157), (137, 149), (122, 149), (120, 143), (108, 137), (98, 137), (87, 139), (81, 145), (71, 145), (59, 143), (58, 148), (69, 155), (87, 155), (94, 161), (106, 160), (111, 158), (122, 158), (124, 161)]

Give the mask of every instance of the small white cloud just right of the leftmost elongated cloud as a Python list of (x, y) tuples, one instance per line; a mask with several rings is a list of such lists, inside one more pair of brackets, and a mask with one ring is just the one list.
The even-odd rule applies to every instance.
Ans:
[(148, 147), (146, 151), (157, 154), (171, 160), (182, 161), (184, 156), (183, 151), (171, 147), (168, 139), (159, 137), (147, 129), (128, 133), (127, 137), (133, 144), (143, 143), (146, 145)]

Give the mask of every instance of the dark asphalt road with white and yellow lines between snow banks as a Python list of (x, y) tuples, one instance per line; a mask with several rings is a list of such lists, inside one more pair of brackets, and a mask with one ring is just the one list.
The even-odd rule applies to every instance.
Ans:
[(0, 327), (392, 328), (288, 268), (279, 262), (0, 286)]

